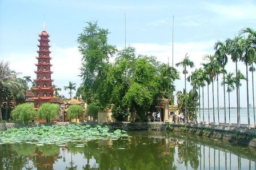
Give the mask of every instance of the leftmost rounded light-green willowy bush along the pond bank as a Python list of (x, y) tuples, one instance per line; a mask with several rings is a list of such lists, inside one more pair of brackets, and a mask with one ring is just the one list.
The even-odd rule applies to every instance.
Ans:
[(35, 110), (33, 104), (19, 104), (17, 107), (11, 111), (11, 116), (14, 120), (21, 120), (22, 123), (27, 123), (29, 119), (35, 117)]

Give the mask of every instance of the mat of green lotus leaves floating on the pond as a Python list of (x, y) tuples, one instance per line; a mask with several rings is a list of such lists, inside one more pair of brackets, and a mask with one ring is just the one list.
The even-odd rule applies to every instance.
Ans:
[[(51, 145), (63, 144), (76, 140), (89, 141), (94, 139), (118, 139), (120, 136), (128, 136), (126, 131), (119, 129), (114, 132), (108, 127), (101, 127), (99, 125), (91, 127), (90, 125), (69, 124), (68, 126), (41, 126), (41, 127), (23, 127), (23, 128), (9, 128), (7, 131), (0, 131), (0, 145), (7, 143), (26, 143)], [(50, 147), (51, 148), (51, 147)], [(57, 148), (52, 148), (57, 153)], [(47, 149), (46, 149), (47, 150)], [(41, 148), (40, 151), (45, 151)], [(46, 153), (50, 155), (51, 153)]]

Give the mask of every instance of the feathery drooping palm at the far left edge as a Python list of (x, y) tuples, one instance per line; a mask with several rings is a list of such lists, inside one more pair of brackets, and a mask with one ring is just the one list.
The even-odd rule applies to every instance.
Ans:
[[(7, 88), (12, 95), (19, 94), (24, 84), (17, 78), (18, 73), (10, 70), (9, 63), (0, 60), (0, 106), (2, 106), (2, 90)], [(2, 110), (0, 107), (0, 120), (2, 120)]]

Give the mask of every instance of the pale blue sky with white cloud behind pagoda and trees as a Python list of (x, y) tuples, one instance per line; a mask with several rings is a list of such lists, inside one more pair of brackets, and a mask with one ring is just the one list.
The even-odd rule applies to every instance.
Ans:
[[(37, 62), (35, 56), (38, 55), (37, 39), (45, 20), (46, 31), (50, 34), (50, 56), (53, 58), (51, 70), (54, 73), (51, 77), (54, 79), (54, 84), (62, 88), (60, 93), (68, 98), (68, 91), (64, 91), (63, 86), (67, 86), (69, 81), (76, 83), (77, 87), (82, 83), (78, 76), (82, 56), (77, 48), (77, 38), (87, 26), (86, 22), (97, 21), (99, 27), (108, 29), (109, 44), (121, 50), (125, 47), (126, 14), (126, 44), (135, 47), (137, 54), (154, 55), (163, 63), (167, 63), (169, 58), (170, 64), (173, 57), (175, 64), (187, 53), (194, 61), (195, 68), (199, 68), (200, 64), (205, 62), (202, 57), (214, 53), (215, 42), (234, 38), (239, 30), (245, 27), (256, 29), (255, 11), (256, 1), (246, 0), (1, 0), (0, 59), (9, 61), (10, 68), (22, 72), (21, 76), (31, 76), (34, 79), (36, 76), (34, 63)], [(173, 16), (174, 34), (172, 34)], [(172, 48), (172, 37), (174, 48)], [(226, 68), (229, 72), (235, 72), (235, 64), (231, 60)], [(238, 68), (245, 74), (243, 63), (239, 63)], [(182, 72), (182, 68), (178, 70)], [(251, 89), (250, 73), (249, 76), (249, 89)], [(190, 90), (191, 87), (189, 83), (187, 84), (187, 89)], [(175, 85), (177, 90), (182, 90), (184, 87), (182, 74)], [(214, 88), (216, 91), (216, 84)], [(222, 87), (219, 95), (220, 106), (223, 106)], [(207, 95), (205, 96), (206, 103)], [(236, 106), (235, 99), (234, 91), (230, 94), (231, 107)], [(251, 92), (249, 99), (252, 100)], [(210, 106), (211, 104), (210, 100)], [(241, 106), (246, 107), (245, 82), (241, 87)]]

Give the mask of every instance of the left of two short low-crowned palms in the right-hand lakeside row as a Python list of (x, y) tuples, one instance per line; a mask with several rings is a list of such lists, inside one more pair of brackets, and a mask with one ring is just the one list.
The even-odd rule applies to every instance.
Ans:
[(230, 126), (230, 92), (235, 89), (235, 78), (233, 78), (233, 72), (226, 75), (225, 82), (221, 82), (221, 85), (227, 84), (227, 92), (229, 93), (229, 126)]

